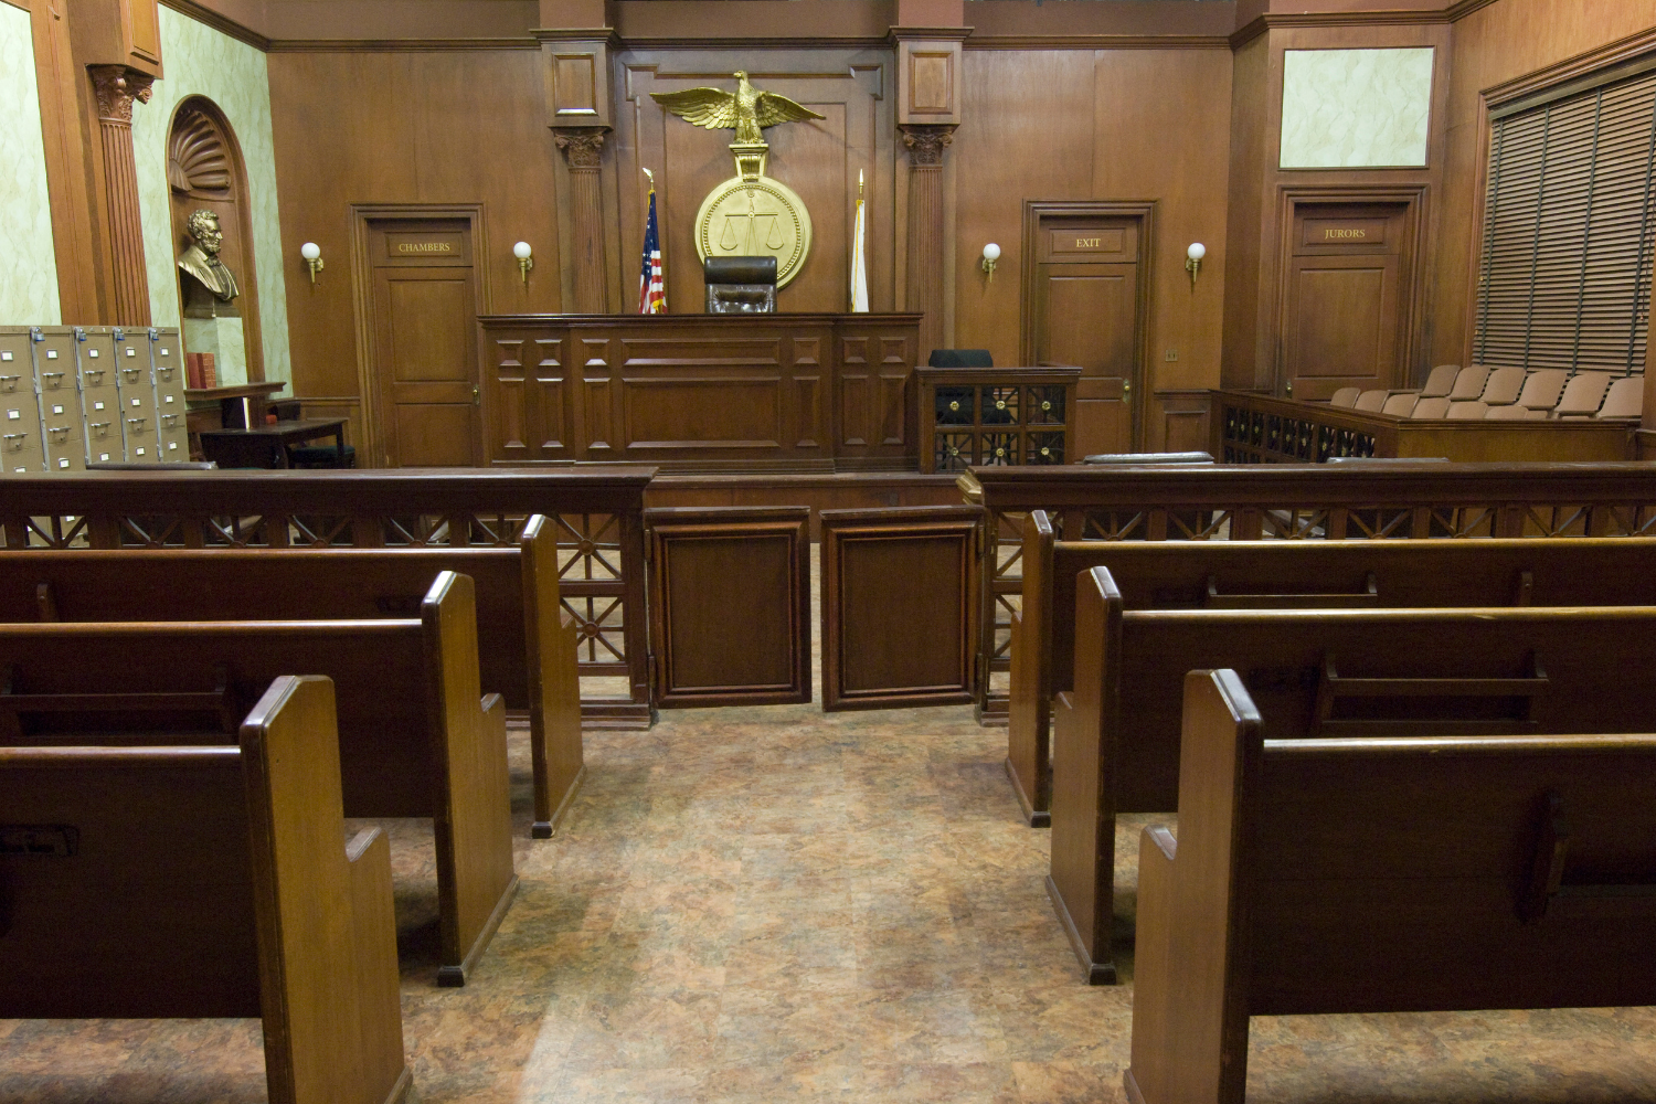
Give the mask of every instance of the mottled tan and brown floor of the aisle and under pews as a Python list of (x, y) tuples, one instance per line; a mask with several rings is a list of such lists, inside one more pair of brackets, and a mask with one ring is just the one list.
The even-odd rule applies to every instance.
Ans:
[[(1124, 1099), (1131, 957), (1119, 986), (1080, 982), (1005, 730), (969, 708), (588, 733), (586, 786), (535, 842), (520, 732), (512, 753), (522, 887), (462, 990), (434, 985), (431, 826), (389, 824), (427, 1104)], [(1151, 819), (1118, 833), (1118, 886)], [(1249, 1063), (1260, 1102), (1656, 1102), (1656, 1010), (1255, 1018)], [(258, 1021), (0, 1020), (0, 1104), (263, 1099)]]

